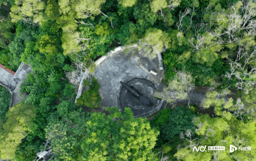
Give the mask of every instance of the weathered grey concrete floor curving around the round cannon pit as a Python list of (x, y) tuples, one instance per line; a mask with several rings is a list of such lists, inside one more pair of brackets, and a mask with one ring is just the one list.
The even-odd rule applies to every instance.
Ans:
[[(150, 74), (153, 70), (157, 75)], [(122, 85), (120, 81), (127, 82), (133, 78), (144, 78), (156, 85), (156, 89), (161, 90), (161, 79), (164, 72), (159, 69), (158, 58), (150, 61), (147, 57), (141, 57), (137, 52), (127, 55), (122, 51), (106, 58), (101, 62), (92, 74), (100, 83), (101, 105), (103, 107), (121, 107), (119, 93)]]

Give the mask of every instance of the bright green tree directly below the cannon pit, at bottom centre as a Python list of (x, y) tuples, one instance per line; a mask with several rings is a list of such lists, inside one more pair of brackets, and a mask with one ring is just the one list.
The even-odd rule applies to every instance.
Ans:
[(145, 118), (134, 119), (130, 108), (125, 108), (123, 114), (116, 107), (107, 110), (111, 113), (108, 117), (94, 112), (86, 122), (81, 159), (154, 160), (152, 148), (159, 132), (151, 129)]

